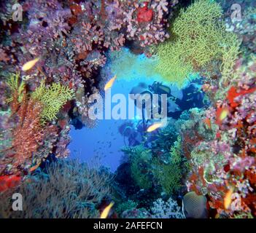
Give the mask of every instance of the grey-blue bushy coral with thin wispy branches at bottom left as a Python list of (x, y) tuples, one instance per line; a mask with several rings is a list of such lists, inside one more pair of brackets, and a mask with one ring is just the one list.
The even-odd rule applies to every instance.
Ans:
[(23, 211), (11, 211), (12, 191), (0, 194), (2, 218), (98, 218), (97, 205), (109, 197), (111, 176), (77, 160), (55, 162), (16, 190)]

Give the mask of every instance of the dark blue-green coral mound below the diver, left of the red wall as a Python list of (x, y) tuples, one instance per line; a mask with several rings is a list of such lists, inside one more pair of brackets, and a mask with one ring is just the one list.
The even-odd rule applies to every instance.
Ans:
[(156, 189), (170, 195), (182, 187), (182, 164), (185, 162), (180, 149), (180, 138), (174, 127), (160, 130), (158, 137), (147, 143), (123, 149), (131, 162), (131, 177), (140, 189)]

